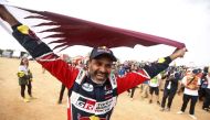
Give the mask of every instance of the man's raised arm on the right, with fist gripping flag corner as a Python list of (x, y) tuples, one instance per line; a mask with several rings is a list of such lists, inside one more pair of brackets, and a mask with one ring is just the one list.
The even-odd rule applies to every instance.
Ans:
[(151, 65), (146, 65), (143, 69), (139, 69), (138, 72), (128, 73), (125, 77), (118, 78), (117, 92), (122, 94), (123, 91), (157, 76), (160, 72), (165, 70), (174, 59), (182, 57), (185, 53), (186, 48), (178, 50), (174, 52), (170, 56), (159, 58), (157, 63), (151, 63)]

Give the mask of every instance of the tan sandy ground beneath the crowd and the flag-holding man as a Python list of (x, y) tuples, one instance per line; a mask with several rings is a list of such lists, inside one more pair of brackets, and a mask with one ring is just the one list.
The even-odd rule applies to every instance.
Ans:
[[(0, 57), (0, 120), (66, 120), (66, 92), (63, 103), (57, 105), (61, 84), (48, 72), (42, 74), (36, 62), (30, 62), (30, 68), (34, 76), (33, 95), (38, 99), (22, 101), (15, 75), (19, 64), (19, 59)], [(161, 112), (158, 105), (141, 99), (137, 89), (133, 101), (127, 92), (118, 97), (112, 120), (192, 120), (188, 116), (189, 107), (185, 114), (176, 113), (181, 103), (181, 96), (176, 95), (171, 111)], [(210, 113), (201, 110), (201, 102), (197, 102), (196, 116), (198, 120), (210, 119)]]

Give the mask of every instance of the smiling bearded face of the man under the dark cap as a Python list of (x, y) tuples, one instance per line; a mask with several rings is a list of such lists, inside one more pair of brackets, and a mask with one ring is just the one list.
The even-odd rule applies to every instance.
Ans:
[(98, 81), (106, 80), (112, 70), (112, 59), (106, 56), (91, 59), (88, 63), (91, 78)]

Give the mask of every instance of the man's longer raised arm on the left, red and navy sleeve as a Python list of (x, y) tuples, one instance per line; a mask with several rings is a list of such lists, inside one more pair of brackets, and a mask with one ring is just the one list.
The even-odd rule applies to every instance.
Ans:
[(73, 68), (55, 55), (52, 50), (43, 43), (27, 26), (22, 25), (3, 6), (0, 4), (0, 18), (8, 22), (17, 41), (38, 61), (46, 70), (61, 80), (67, 88), (72, 87), (78, 69)]

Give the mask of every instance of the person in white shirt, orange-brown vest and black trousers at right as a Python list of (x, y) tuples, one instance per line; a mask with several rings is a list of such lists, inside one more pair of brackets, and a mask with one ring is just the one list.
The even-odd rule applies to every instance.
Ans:
[(193, 69), (190, 74), (188, 74), (182, 78), (181, 84), (185, 86), (183, 99), (182, 99), (183, 102), (181, 106), (181, 110), (177, 112), (179, 114), (183, 113), (188, 102), (191, 100), (189, 116), (192, 119), (197, 119), (195, 116), (195, 107), (196, 102), (198, 101), (198, 89), (200, 85), (200, 78), (197, 77), (198, 73), (199, 73), (198, 69)]

